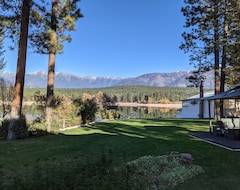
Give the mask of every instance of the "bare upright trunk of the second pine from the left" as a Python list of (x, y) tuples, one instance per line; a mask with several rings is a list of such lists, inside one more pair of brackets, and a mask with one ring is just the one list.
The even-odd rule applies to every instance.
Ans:
[(46, 101), (46, 124), (47, 131), (51, 132), (51, 118), (54, 98), (54, 77), (55, 77), (55, 61), (57, 48), (57, 9), (58, 0), (52, 0), (52, 16), (51, 16), (51, 33), (50, 48), (48, 59), (48, 81), (47, 81), (47, 101)]

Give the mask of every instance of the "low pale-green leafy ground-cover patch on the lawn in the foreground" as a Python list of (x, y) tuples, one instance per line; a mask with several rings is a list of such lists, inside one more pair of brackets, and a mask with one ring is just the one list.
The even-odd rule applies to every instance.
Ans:
[(172, 189), (177, 184), (203, 172), (200, 166), (188, 165), (176, 156), (144, 156), (128, 162), (133, 189)]

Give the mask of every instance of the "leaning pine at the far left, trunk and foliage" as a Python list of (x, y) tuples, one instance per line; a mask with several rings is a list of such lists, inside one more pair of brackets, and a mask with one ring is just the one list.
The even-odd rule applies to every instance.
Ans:
[[(11, 121), (8, 129), (8, 139), (17, 137), (19, 130), (19, 121), (22, 117), (22, 100), (26, 67), (26, 52), (29, 33), (34, 33), (38, 18), (32, 10), (44, 9), (38, 3), (45, 1), (33, 0), (1, 0), (0, 1), (0, 24), (4, 31), (4, 37), (12, 40), (10, 50), (18, 48), (18, 59), (16, 69), (16, 80), (14, 86), (14, 95), (11, 106)], [(30, 22), (29, 22), (30, 21)], [(29, 30), (31, 26), (31, 30)]]

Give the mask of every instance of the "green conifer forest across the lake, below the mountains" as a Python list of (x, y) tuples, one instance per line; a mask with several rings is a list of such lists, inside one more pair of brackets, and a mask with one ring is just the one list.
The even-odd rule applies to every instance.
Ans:
[[(26, 88), (24, 91), (25, 101), (34, 101), (34, 94), (46, 94), (43, 88)], [(81, 98), (84, 93), (96, 95), (103, 92), (117, 102), (156, 102), (169, 103), (179, 102), (199, 93), (197, 88), (180, 87), (153, 87), (153, 86), (116, 86), (106, 88), (79, 88), (79, 89), (55, 89), (55, 95), (67, 96), (72, 100)]]

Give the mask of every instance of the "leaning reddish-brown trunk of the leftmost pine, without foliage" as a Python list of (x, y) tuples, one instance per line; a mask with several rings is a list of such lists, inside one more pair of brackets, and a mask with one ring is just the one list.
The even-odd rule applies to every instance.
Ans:
[(22, 100), (24, 90), (25, 68), (26, 68), (26, 54), (27, 54), (27, 40), (28, 40), (28, 24), (30, 14), (31, 0), (23, 0), (22, 14), (21, 14), (21, 29), (20, 40), (18, 45), (18, 60), (16, 70), (16, 80), (14, 87), (14, 95), (11, 107), (11, 120), (8, 128), (8, 139), (16, 138), (17, 122), (21, 118)]

